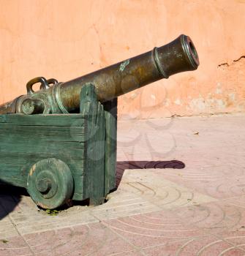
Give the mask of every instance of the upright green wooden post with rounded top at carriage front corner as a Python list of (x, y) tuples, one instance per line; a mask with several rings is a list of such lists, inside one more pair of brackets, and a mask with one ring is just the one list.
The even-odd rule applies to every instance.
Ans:
[(97, 101), (92, 84), (86, 84), (80, 94), (80, 113), (86, 116), (85, 135), (85, 170), (84, 192), (91, 205), (98, 205), (105, 200), (105, 113)]

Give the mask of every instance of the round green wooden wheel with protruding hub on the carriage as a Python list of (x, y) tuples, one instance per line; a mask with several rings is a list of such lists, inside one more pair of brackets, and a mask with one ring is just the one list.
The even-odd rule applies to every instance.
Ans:
[(57, 208), (72, 197), (72, 173), (59, 159), (42, 159), (29, 171), (27, 191), (37, 206)]

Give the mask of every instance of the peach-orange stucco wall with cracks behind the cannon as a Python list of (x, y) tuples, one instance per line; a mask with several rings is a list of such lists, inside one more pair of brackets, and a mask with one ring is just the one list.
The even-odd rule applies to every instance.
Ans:
[(189, 35), (200, 67), (119, 98), (121, 118), (245, 110), (244, 0), (0, 0), (0, 102)]

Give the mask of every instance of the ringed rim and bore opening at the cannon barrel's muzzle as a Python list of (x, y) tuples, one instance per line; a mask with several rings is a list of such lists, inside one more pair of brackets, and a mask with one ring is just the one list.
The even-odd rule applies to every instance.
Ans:
[(181, 42), (184, 48), (184, 52), (186, 53), (190, 63), (192, 64), (193, 69), (197, 69), (197, 67), (199, 66), (199, 58), (192, 39), (184, 34), (181, 34)]

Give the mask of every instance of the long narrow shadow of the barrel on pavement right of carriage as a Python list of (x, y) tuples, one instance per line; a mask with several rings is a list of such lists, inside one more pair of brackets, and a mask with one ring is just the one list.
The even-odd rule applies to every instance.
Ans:
[(186, 165), (178, 160), (171, 161), (121, 161), (116, 163), (116, 187), (119, 186), (124, 170), (127, 169), (183, 169)]

